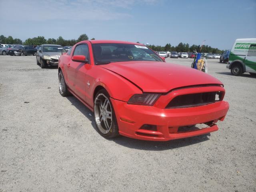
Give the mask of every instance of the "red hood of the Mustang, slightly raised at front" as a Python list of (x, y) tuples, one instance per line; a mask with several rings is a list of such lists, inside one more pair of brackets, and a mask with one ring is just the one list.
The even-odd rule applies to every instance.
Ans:
[(143, 92), (168, 92), (183, 86), (222, 84), (199, 70), (166, 62), (116, 62), (101, 67), (130, 80)]

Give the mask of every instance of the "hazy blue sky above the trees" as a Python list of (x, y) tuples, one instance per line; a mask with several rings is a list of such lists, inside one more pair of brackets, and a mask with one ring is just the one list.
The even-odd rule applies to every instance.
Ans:
[(230, 49), (256, 38), (256, 0), (0, 0), (0, 35), (180, 42)]

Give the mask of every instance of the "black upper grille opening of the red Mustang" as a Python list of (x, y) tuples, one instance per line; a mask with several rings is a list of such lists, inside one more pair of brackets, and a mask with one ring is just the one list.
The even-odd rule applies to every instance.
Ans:
[(221, 101), (224, 97), (224, 92), (205, 92), (180, 95), (173, 98), (166, 109), (170, 108), (186, 108), (201, 105), (207, 105), (214, 102)]

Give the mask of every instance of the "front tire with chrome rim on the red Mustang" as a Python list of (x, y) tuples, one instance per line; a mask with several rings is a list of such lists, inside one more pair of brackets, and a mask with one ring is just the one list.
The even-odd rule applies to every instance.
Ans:
[(104, 138), (114, 138), (119, 135), (114, 108), (108, 92), (104, 89), (94, 98), (94, 120), (98, 132)]

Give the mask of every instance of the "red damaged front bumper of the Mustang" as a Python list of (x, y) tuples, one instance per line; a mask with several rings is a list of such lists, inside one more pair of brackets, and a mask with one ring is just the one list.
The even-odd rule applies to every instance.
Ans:
[[(216, 122), (223, 121), (229, 108), (226, 101), (189, 108), (158, 108), (127, 104), (111, 98), (118, 122), (119, 133), (141, 140), (168, 141), (207, 134), (218, 130)], [(214, 122), (206, 128), (180, 131), (183, 126)], [(143, 125), (154, 125), (156, 130), (146, 130)], [(195, 127), (194, 127), (195, 128)]]

